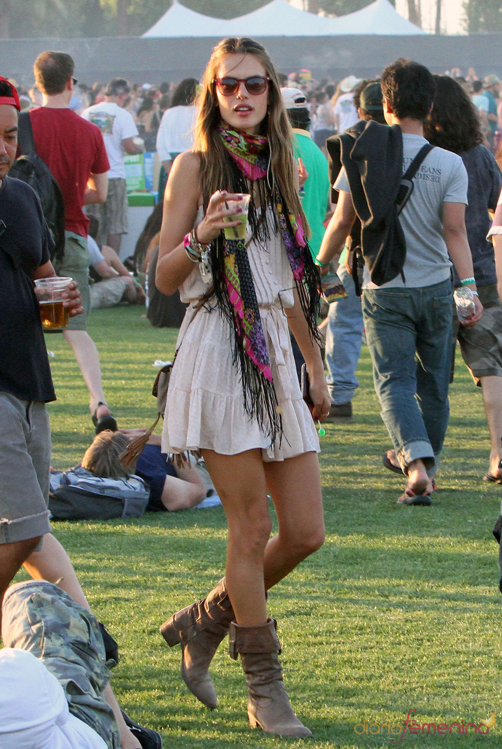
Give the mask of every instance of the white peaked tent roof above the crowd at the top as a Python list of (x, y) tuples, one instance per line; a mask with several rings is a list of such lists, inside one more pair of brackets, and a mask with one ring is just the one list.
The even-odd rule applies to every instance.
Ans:
[(144, 37), (315, 37), (338, 34), (425, 34), (396, 12), (389, 0), (372, 4), (346, 16), (326, 18), (298, 10), (286, 0), (267, 5), (232, 19), (211, 18), (174, 0)]

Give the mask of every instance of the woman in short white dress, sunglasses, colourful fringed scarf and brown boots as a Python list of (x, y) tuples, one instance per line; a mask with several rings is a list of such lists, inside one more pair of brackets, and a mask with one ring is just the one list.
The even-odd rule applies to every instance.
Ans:
[[(316, 340), (318, 272), (303, 234), (291, 127), (276, 70), (260, 44), (215, 47), (199, 97), (192, 151), (166, 187), (157, 287), (189, 303), (178, 338), (163, 452), (200, 449), (229, 524), (226, 576), (161, 627), (181, 643), (181, 673), (216, 707), (208, 667), (230, 631), (241, 655), (252, 727), (311, 736), (282, 684), (267, 590), (324, 542), (318, 437), (330, 409)], [(246, 240), (227, 240), (227, 207), (251, 194)], [(195, 228), (193, 228), (195, 227)], [(288, 325), (309, 370), (312, 416), (294, 369)], [(267, 492), (279, 533), (270, 539)]]

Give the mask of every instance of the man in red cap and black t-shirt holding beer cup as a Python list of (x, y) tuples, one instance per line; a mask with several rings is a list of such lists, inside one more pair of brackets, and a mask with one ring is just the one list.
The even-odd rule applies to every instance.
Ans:
[[(16, 158), (18, 112), (16, 89), (0, 78), (0, 602), (51, 530), (45, 404), (55, 393), (34, 282), (55, 279), (53, 241), (34, 190), (7, 177)], [(71, 279), (49, 293), (52, 309), (61, 309), (61, 327), (68, 315), (83, 312)]]

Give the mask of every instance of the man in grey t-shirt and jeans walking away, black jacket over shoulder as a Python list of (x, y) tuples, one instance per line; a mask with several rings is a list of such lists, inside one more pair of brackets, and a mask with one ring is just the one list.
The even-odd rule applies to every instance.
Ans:
[[(398, 503), (429, 505), (449, 417), (451, 261), (476, 294), (464, 220), (468, 176), (459, 156), (429, 150), (423, 137), (435, 90), (429, 70), (397, 60), (385, 68), (381, 89), (390, 127), (369, 122), (357, 139), (342, 136), (339, 201), (318, 263), (325, 273), (357, 213), (375, 389), (408, 478)], [(462, 324), (480, 319), (483, 306), (474, 300)]]

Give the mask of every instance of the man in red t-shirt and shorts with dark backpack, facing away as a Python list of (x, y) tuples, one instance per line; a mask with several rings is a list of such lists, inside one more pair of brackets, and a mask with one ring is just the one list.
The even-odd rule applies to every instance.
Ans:
[(73, 59), (64, 52), (42, 52), (34, 63), (34, 76), (42, 93), (42, 106), (30, 111), (37, 154), (49, 167), (64, 200), (66, 237), (64, 257), (55, 263), (58, 276), (70, 276), (79, 285), (84, 314), (72, 318), (64, 338), (73, 348), (90, 394), (89, 407), (99, 428), (116, 428), (103, 393), (100, 359), (86, 330), (90, 309), (87, 247), (89, 219), (84, 205), (104, 203), (108, 190), (109, 161), (103, 136), (96, 125), (68, 108), (73, 94)]

